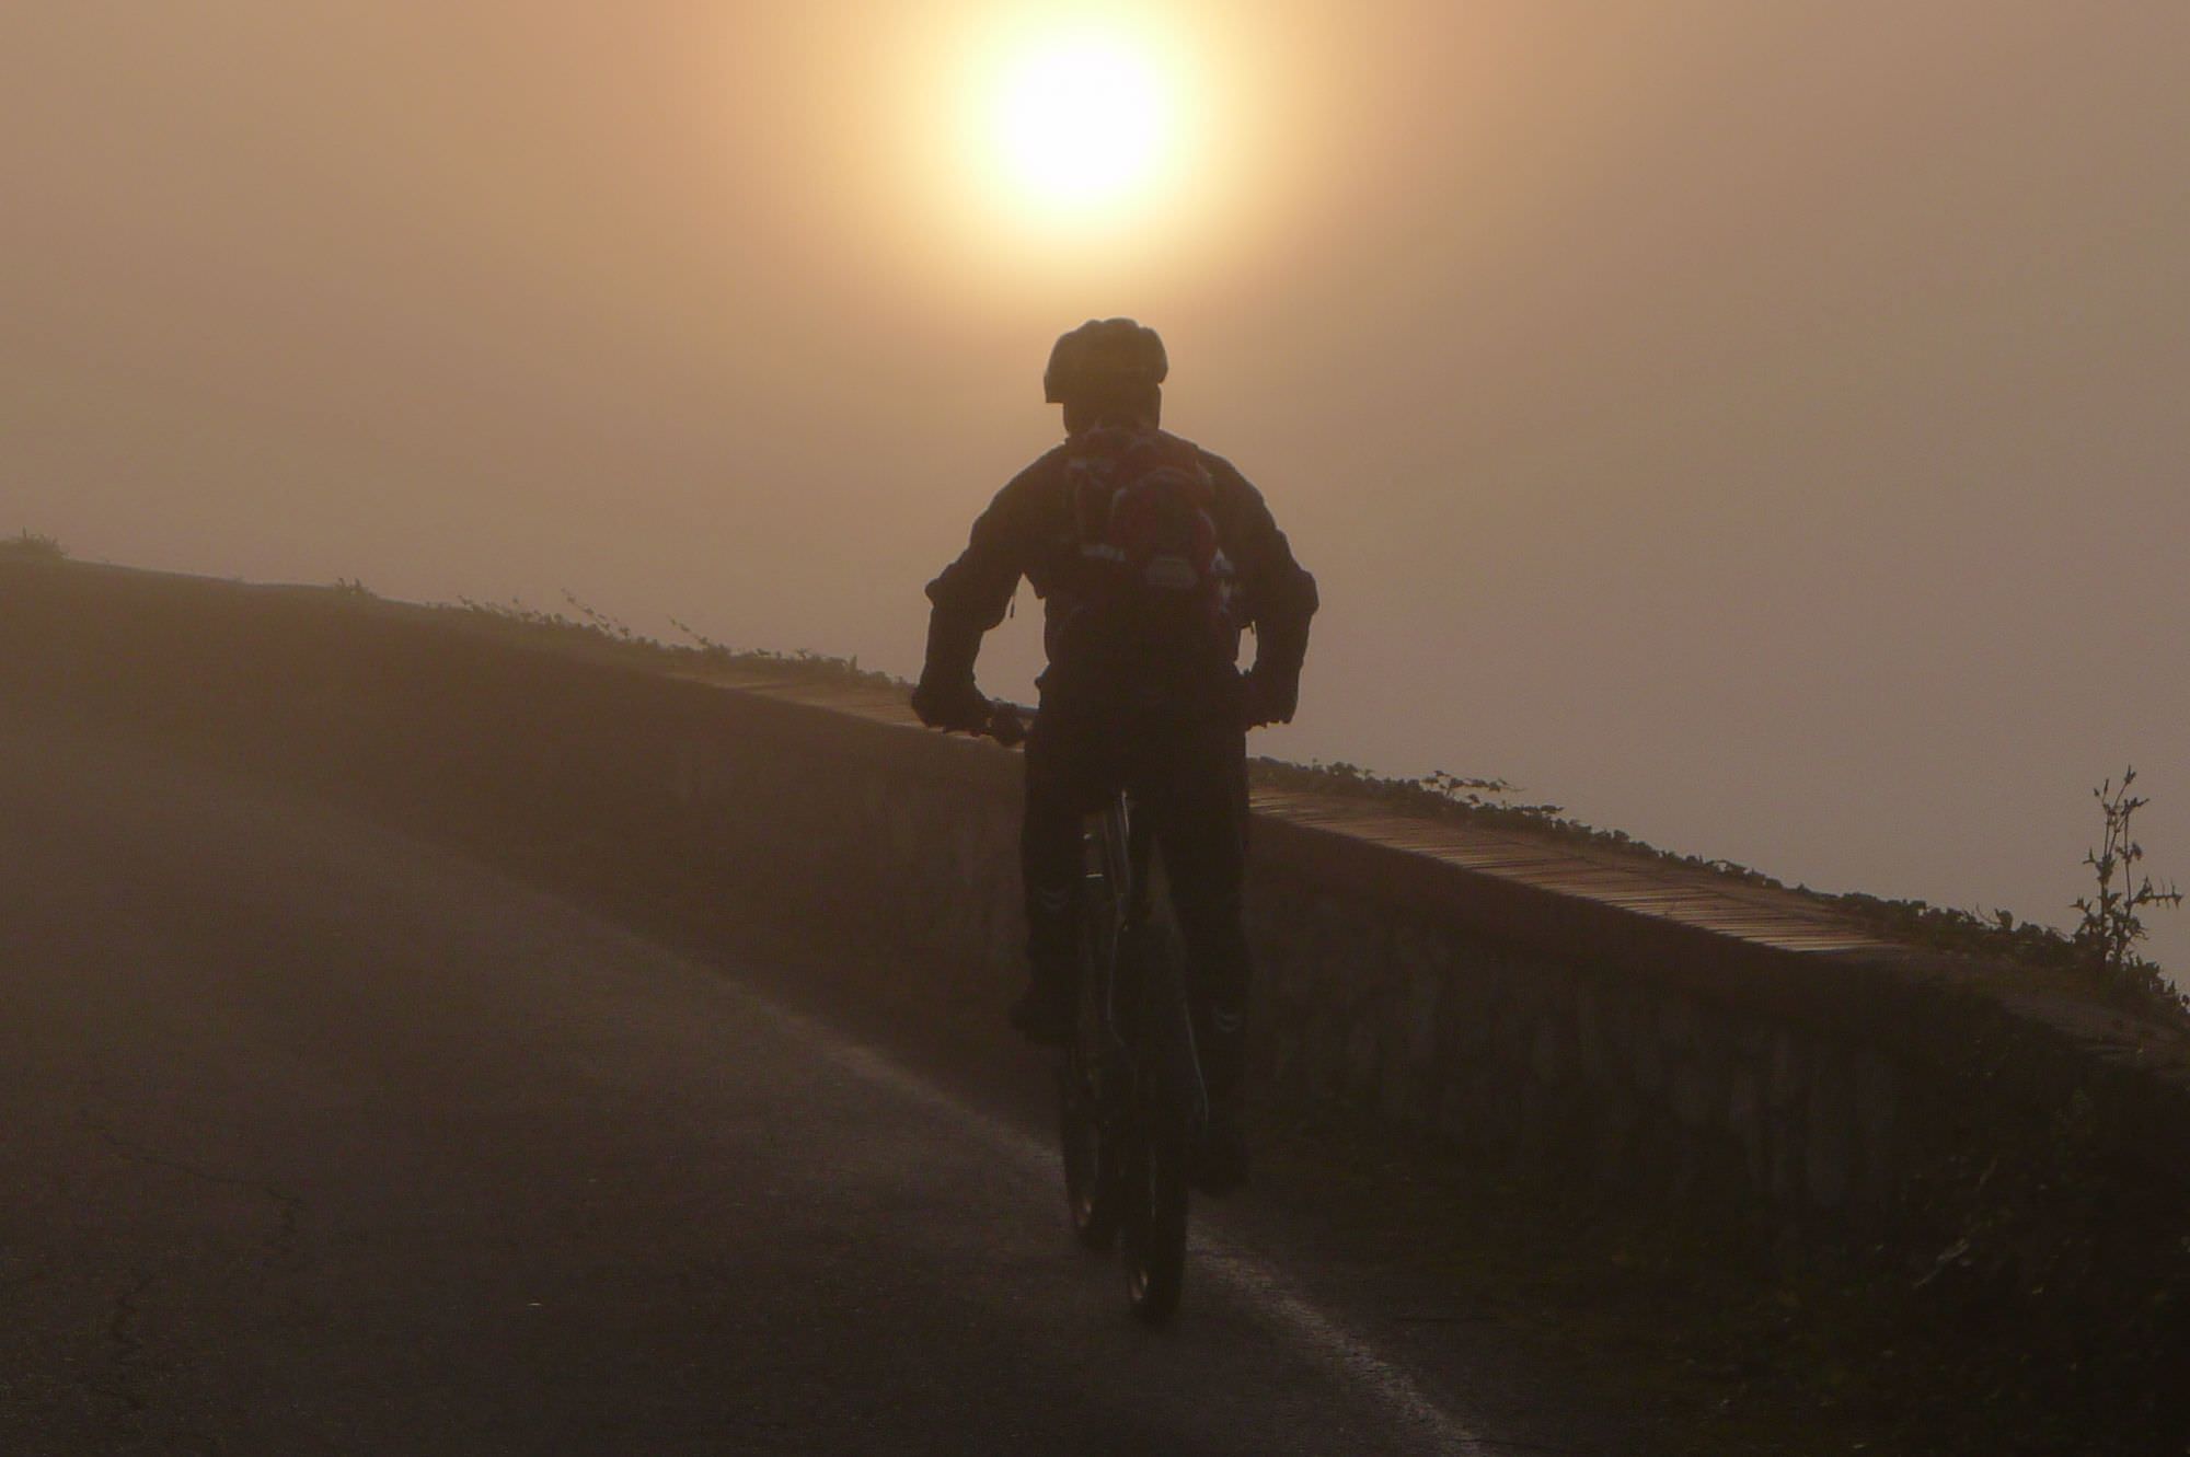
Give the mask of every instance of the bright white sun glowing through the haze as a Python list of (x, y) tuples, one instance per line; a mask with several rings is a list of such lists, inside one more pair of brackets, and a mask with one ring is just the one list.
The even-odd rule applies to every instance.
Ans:
[(1084, 217), (1152, 195), (1176, 162), (1161, 57), (1126, 35), (1036, 35), (999, 57), (990, 144), (1012, 197)]

